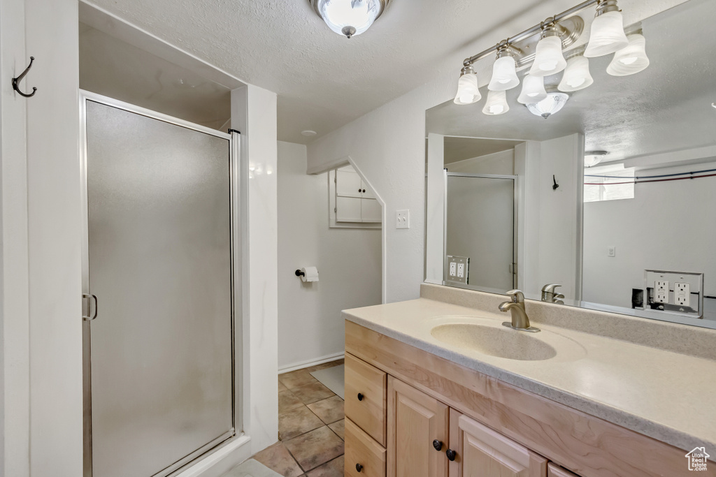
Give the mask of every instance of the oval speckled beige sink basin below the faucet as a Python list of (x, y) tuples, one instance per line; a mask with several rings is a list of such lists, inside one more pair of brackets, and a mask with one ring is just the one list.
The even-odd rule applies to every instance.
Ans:
[(448, 323), (432, 328), (430, 334), (448, 345), (496, 358), (542, 361), (557, 355), (557, 350), (537, 338), (537, 335), (502, 326)]

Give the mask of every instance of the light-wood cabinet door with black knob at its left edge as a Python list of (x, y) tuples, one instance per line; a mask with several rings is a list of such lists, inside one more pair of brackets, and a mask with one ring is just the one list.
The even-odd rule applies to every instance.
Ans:
[(450, 410), (450, 477), (546, 477), (547, 459)]

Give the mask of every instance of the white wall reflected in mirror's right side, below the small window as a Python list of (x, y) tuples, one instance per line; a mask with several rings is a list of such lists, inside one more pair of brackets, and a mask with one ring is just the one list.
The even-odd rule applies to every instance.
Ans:
[[(704, 169), (716, 162), (637, 174)], [(705, 293), (715, 296), (715, 180), (638, 184), (634, 199), (584, 204), (584, 300), (631, 308), (632, 288), (644, 288), (647, 269), (705, 273)], [(611, 246), (615, 257), (607, 256)]]

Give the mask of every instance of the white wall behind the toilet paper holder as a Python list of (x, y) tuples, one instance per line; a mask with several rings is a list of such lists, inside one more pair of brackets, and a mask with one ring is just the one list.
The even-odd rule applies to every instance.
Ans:
[[(279, 142), (279, 369), (344, 352), (341, 310), (381, 303), (381, 232), (330, 229), (326, 174), (306, 174), (306, 146)], [(296, 269), (316, 266), (319, 281)]]

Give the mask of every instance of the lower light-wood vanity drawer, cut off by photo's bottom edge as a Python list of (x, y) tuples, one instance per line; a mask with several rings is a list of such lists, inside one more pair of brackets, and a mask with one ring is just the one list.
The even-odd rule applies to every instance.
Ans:
[(385, 477), (385, 448), (379, 446), (348, 418), (344, 459), (346, 476)]

